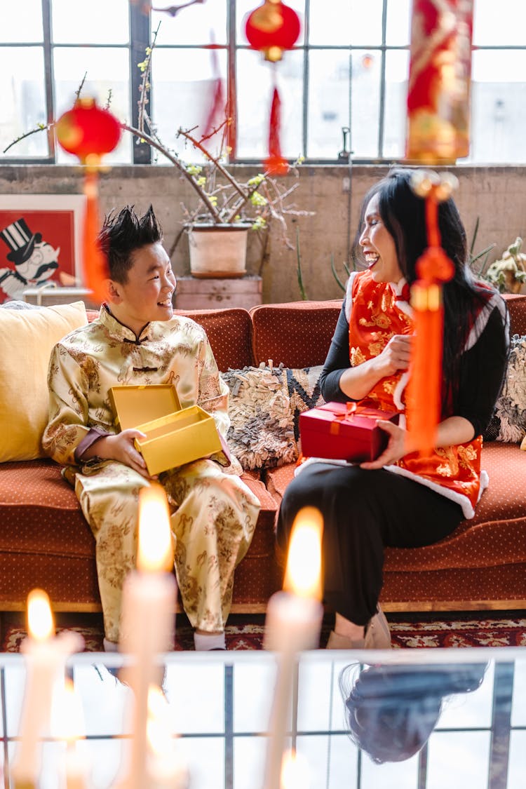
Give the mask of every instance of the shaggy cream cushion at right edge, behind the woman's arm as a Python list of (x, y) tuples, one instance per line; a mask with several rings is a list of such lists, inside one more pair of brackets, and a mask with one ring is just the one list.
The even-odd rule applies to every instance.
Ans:
[(484, 432), (488, 441), (520, 442), (526, 436), (526, 335), (513, 335), (508, 369), (493, 417)]

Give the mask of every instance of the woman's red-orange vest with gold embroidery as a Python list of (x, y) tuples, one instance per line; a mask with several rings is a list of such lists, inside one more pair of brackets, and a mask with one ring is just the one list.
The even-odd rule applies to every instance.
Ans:
[[(349, 358), (351, 366), (356, 367), (382, 353), (394, 335), (410, 334), (412, 318), (399, 306), (390, 284), (376, 283), (369, 271), (355, 276), (352, 296)], [(402, 375), (402, 372), (397, 372), (379, 380), (361, 404), (402, 412), (405, 408)], [(407, 454), (396, 465), (405, 469), (408, 476), (416, 474), (421, 477), (421, 481), (424, 484), (427, 481), (430, 487), (439, 485), (449, 488), (453, 494), (466, 496), (475, 507), (479, 499), (481, 449), (482, 437), (476, 436), (468, 443), (439, 447), (429, 457)]]

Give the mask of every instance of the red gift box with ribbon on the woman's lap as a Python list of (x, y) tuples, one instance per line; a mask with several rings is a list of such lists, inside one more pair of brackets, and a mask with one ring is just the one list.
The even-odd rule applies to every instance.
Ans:
[(375, 460), (389, 436), (377, 427), (379, 419), (397, 423), (398, 414), (356, 403), (328, 402), (300, 413), (301, 453), (308, 458), (331, 458), (361, 463)]

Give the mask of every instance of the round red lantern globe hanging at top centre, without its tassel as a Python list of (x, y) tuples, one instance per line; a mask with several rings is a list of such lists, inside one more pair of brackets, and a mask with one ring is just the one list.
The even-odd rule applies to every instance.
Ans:
[(263, 52), (265, 60), (282, 59), (283, 50), (292, 49), (300, 36), (300, 17), (281, 0), (265, 0), (244, 23), (252, 49)]

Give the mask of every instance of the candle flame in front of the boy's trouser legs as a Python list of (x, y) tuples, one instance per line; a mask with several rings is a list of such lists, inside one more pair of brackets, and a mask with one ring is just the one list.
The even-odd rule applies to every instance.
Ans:
[(173, 567), (170, 510), (166, 493), (159, 484), (140, 490), (137, 567), (149, 573)]

